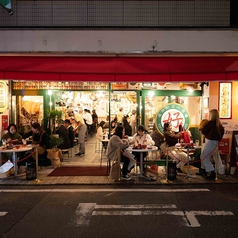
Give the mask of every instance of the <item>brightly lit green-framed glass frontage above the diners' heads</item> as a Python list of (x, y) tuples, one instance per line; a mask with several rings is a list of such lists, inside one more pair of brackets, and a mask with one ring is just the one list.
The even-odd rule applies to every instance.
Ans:
[[(63, 119), (69, 111), (96, 110), (99, 121), (113, 120), (123, 108), (123, 115), (137, 112), (137, 124), (151, 132), (158, 110), (167, 103), (184, 105), (191, 113), (191, 127), (202, 117), (202, 93), (198, 83), (83, 83), (13, 81), (11, 121), (24, 133), (32, 122), (47, 126), (46, 109), (61, 110)], [(16, 105), (16, 106), (14, 106)]]

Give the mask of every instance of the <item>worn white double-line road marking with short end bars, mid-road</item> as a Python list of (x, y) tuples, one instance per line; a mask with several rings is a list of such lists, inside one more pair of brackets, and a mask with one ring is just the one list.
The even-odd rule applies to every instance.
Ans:
[[(89, 226), (92, 216), (181, 216), (185, 226), (200, 227), (196, 216), (233, 216), (230, 211), (156, 211), (155, 209), (177, 208), (174, 204), (145, 204), (145, 205), (97, 205), (95, 203), (80, 203), (77, 207), (77, 216), (74, 224)], [(104, 209), (104, 210), (102, 210)], [(111, 209), (111, 210), (109, 210)], [(126, 210), (116, 210), (126, 209)], [(130, 210), (131, 209), (131, 210)], [(137, 210), (136, 210), (137, 209)], [(146, 210), (147, 209), (147, 210)], [(151, 210), (148, 210), (151, 209)]]

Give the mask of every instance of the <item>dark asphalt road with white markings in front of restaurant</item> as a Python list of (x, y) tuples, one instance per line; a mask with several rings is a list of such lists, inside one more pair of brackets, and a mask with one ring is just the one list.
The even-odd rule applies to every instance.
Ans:
[(0, 237), (237, 237), (238, 185), (0, 187)]

